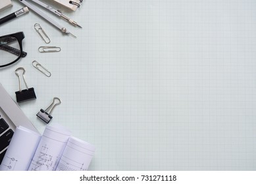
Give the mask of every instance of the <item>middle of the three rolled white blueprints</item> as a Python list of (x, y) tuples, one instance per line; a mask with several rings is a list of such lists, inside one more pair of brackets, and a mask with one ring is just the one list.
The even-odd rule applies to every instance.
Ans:
[(34, 154), (29, 171), (54, 171), (56, 170), (64, 147), (68, 142), (71, 132), (63, 126), (55, 125), (45, 127), (38, 148)]

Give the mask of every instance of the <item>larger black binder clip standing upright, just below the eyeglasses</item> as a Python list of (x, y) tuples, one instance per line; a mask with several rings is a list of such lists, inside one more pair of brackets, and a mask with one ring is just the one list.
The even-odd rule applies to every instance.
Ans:
[[(24, 83), (26, 85), (26, 89), (23, 89), (23, 90), (21, 89), (21, 78), (20, 78), (20, 75), (18, 74), (18, 70), (23, 70), (22, 78), (23, 78)], [(28, 88), (28, 85), (26, 83), (25, 76), (24, 76), (25, 73), (26, 73), (26, 70), (22, 67), (17, 68), (15, 70), (15, 74), (16, 74), (16, 76), (18, 76), (18, 83), (19, 83), (19, 85), (18, 85), (19, 86), (19, 91), (15, 92), (17, 103), (22, 103), (24, 101), (30, 101), (30, 100), (36, 99), (36, 93), (34, 91), (34, 88), (33, 87)]]

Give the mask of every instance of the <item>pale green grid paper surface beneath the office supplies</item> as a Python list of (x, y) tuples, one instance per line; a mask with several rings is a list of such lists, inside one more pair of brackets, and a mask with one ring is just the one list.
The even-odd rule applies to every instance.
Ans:
[[(22, 7), (13, 0), (0, 16)], [(95, 145), (90, 170), (256, 170), (256, 1), (85, 0), (76, 12), (60, 9), (83, 29), (43, 11), (77, 39), (32, 11), (0, 29), (26, 36), (27, 57), (0, 70), (0, 82), (15, 99), (14, 70), (26, 69), (38, 98), (20, 107), (41, 133), (36, 113), (59, 97), (51, 124)], [(60, 53), (38, 52), (46, 44), (36, 23)]]

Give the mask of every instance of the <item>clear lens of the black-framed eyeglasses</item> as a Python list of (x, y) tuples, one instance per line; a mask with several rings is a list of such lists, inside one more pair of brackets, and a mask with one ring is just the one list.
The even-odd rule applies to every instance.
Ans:
[(20, 45), (16, 37), (0, 38), (0, 66), (9, 64), (20, 57)]

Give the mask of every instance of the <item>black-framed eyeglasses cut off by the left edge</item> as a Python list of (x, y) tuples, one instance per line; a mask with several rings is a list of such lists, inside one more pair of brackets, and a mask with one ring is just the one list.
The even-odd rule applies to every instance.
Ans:
[(0, 68), (14, 64), (21, 57), (26, 57), (27, 53), (22, 51), (24, 37), (23, 32), (0, 37)]

